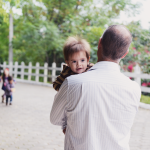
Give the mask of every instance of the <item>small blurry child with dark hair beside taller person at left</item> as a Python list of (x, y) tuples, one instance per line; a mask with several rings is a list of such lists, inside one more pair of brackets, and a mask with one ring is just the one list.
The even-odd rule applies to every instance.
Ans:
[(14, 91), (13, 78), (11, 76), (8, 77), (8, 82), (5, 87), (5, 95), (6, 95), (6, 105), (8, 104), (8, 98), (10, 98), (10, 105), (12, 105), (12, 92)]

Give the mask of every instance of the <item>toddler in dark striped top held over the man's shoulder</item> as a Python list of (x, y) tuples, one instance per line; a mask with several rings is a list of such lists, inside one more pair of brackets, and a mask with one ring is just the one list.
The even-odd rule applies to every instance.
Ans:
[[(70, 75), (86, 72), (94, 64), (89, 63), (90, 60), (90, 45), (89, 43), (78, 37), (69, 37), (64, 45), (64, 58), (66, 64), (63, 65), (63, 70), (53, 82), (53, 88), (59, 91), (59, 88), (65, 78)], [(65, 134), (66, 128), (63, 129)]]

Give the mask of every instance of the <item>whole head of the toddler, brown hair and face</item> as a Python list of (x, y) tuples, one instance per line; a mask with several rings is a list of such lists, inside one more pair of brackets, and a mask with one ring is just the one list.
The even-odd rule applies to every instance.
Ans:
[(65, 61), (75, 73), (86, 70), (90, 59), (89, 43), (79, 37), (69, 37), (64, 45)]

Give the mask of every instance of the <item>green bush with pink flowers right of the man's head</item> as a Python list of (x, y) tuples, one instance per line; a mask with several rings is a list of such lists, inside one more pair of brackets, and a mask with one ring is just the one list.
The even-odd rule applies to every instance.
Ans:
[(150, 32), (142, 29), (139, 22), (131, 22), (127, 27), (133, 42), (129, 54), (122, 60), (123, 64), (139, 64), (144, 73), (150, 73)]

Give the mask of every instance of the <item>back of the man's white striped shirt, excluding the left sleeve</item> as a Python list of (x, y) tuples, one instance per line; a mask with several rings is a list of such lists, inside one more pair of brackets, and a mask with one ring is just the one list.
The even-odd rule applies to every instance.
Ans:
[(106, 61), (66, 84), (65, 150), (128, 150), (139, 86)]

